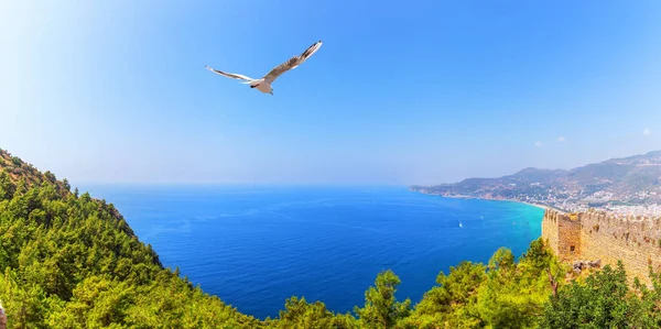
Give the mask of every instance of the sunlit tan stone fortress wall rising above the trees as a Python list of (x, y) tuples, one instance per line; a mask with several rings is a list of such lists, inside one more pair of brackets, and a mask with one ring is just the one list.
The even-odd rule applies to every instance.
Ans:
[(603, 211), (561, 213), (546, 210), (542, 238), (565, 262), (621, 260), (629, 278), (649, 283), (649, 265), (661, 270), (661, 219), (617, 217)]

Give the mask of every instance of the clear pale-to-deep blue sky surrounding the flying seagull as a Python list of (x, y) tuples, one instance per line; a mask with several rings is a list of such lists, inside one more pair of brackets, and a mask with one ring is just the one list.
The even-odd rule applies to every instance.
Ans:
[[(259, 77), (317, 40), (274, 96)], [(3, 1), (0, 147), (74, 184), (433, 184), (661, 149), (659, 1)]]

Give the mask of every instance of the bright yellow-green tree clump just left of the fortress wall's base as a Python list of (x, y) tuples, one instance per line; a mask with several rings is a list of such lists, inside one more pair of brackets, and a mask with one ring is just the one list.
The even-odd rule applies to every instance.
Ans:
[(552, 288), (546, 268), (559, 264), (542, 240), (519, 263), (499, 249), (488, 265), (463, 262), (436, 283), (402, 321), (407, 328), (534, 328)]

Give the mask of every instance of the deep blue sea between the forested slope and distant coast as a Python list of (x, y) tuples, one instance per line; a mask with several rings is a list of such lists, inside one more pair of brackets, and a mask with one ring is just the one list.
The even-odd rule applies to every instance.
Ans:
[(500, 246), (520, 255), (540, 235), (543, 215), (516, 202), (392, 187), (87, 190), (115, 204), (165, 266), (259, 318), (278, 316), (294, 295), (346, 312), (387, 268), (402, 279), (398, 298), (415, 303), (462, 260), (487, 262)]

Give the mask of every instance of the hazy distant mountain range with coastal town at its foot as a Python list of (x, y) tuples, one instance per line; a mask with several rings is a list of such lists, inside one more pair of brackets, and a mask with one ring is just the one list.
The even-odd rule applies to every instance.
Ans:
[(655, 205), (661, 202), (661, 151), (611, 158), (571, 171), (524, 168), (499, 178), (468, 178), (411, 189), (446, 197), (528, 201), (563, 210)]

